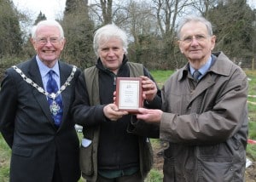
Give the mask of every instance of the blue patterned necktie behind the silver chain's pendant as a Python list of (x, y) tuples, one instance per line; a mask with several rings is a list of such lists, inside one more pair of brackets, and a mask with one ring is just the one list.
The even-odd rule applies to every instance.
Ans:
[[(52, 77), (53, 74), (55, 74), (55, 71), (49, 71), (49, 80), (46, 85), (47, 92), (49, 94), (56, 93), (58, 91), (58, 85), (55, 79)], [(55, 125), (60, 126), (61, 125), (61, 119), (63, 114), (63, 105), (61, 100), (61, 94), (59, 94), (55, 100), (48, 97), (48, 103), (49, 103), (49, 110), (51, 112), (52, 117), (55, 120)]]

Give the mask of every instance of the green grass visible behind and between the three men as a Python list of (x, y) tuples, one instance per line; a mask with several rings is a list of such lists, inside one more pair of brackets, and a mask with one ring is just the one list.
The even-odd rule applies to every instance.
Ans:
[[(173, 71), (150, 71), (155, 81), (161, 88), (166, 82), (167, 78), (170, 77)], [(248, 111), (249, 111), (249, 139), (256, 140), (256, 71), (246, 71), (249, 80), (249, 91), (248, 91)], [(81, 135), (79, 134), (79, 137)], [(159, 147), (158, 139), (152, 139), (154, 148)], [(247, 157), (253, 161), (256, 161), (256, 145), (247, 145)], [(9, 181), (9, 158), (10, 149), (3, 140), (0, 134), (0, 182)], [(79, 180), (83, 181), (82, 179)], [(147, 182), (160, 182), (162, 181), (162, 171), (153, 168), (148, 175)]]

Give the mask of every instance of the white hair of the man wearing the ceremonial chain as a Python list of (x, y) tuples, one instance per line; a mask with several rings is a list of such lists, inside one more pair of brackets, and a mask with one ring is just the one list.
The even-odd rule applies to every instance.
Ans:
[(42, 26), (55, 26), (55, 27), (57, 27), (60, 30), (61, 38), (64, 38), (63, 28), (62, 28), (61, 24), (58, 21), (56, 21), (56, 20), (42, 20), (42, 21), (39, 21), (36, 26), (32, 27), (32, 31), (31, 31), (32, 36), (31, 37), (33, 39), (35, 39), (37, 37), (38, 28), (42, 27)]

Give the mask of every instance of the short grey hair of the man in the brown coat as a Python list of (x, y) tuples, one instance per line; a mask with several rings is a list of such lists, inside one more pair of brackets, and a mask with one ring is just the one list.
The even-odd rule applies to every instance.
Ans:
[(188, 15), (186, 16), (183, 20), (181, 20), (181, 22), (179, 23), (179, 26), (177, 27), (177, 38), (180, 39), (181, 35), (180, 35), (180, 31), (183, 28), (183, 26), (189, 22), (201, 22), (204, 25), (207, 26), (207, 31), (209, 36), (212, 36), (212, 24), (210, 21), (208, 21), (207, 19), (205, 19), (202, 16), (196, 16), (196, 15)]

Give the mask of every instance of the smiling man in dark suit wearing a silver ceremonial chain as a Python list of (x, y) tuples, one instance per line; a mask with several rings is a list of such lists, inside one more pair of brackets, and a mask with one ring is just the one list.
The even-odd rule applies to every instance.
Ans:
[(32, 28), (37, 54), (5, 72), (0, 91), (0, 131), (12, 149), (11, 182), (75, 182), (80, 178), (79, 138), (70, 105), (79, 69), (59, 60), (61, 25)]

